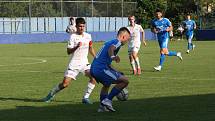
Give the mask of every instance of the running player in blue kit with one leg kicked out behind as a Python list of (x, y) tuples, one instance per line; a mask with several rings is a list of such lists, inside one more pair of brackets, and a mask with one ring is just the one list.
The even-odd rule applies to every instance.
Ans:
[(169, 19), (162, 17), (162, 11), (157, 9), (155, 12), (155, 19), (151, 23), (151, 31), (157, 34), (158, 43), (160, 46), (160, 63), (154, 67), (156, 71), (161, 71), (165, 56), (177, 56), (182, 60), (181, 52), (168, 51), (169, 31), (173, 27)]

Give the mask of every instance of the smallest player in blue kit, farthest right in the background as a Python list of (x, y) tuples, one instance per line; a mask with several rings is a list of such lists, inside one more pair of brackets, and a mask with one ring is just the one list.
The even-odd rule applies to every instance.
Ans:
[(191, 16), (190, 14), (186, 15), (186, 20), (182, 22), (184, 30), (185, 30), (185, 35), (187, 38), (187, 53), (190, 53), (190, 50), (194, 50), (195, 45), (192, 43), (192, 39), (193, 39), (193, 31), (194, 29), (196, 29), (196, 23), (194, 20), (191, 20)]

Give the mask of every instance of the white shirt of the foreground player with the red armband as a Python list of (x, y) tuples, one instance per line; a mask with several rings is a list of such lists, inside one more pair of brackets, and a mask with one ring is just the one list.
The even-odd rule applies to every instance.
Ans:
[(88, 52), (89, 46), (92, 44), (91, 35), (84, 32), (83, 35), (78, 35), (77, 33), (73, 33), (70, 36), (70, 40), (68, 41), (67, 48), (74, 48), (77, 44), (81, 42), (81, 46), (78, 47), (74, 53), (71, 54), (69, 68), (77, 69), (83, 64), (89, 64), (88, 61)]

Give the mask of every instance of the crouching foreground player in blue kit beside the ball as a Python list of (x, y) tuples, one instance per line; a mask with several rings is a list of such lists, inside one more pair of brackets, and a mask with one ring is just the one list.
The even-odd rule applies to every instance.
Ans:
[[(119, 29), (117, 38), (107, 41), (98, 51), (91, 64), (90, 73), (97, 82), (103, 84), (100, 92), (100, 107), (98, 112), (111, 111), (115, 112), (112, 107), (112, 99), (119, 94), (122, 89), (127, 87), (128, 79), (119, 71), (111, 66), (112, 61), (120, 62), (117, 55), (122, 45), (130, 40), (130, 32), (126, 27)], [(110, 93), (108, 90), (111, 84), (116, 84)]]

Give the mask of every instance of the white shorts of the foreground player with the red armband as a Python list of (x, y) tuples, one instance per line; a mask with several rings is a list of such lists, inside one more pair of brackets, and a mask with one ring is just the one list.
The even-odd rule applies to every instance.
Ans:
[(90, 70), (90, 64), (84, 64), (78, 66), (78, 68), (72, 69), (72, 68), (67, 68), (67, 70), (64, 73), (64, 77), (70, 77), (74, 80), (76, 80), (76, 76), (81, 72), (85, 75), (85, 71)]

